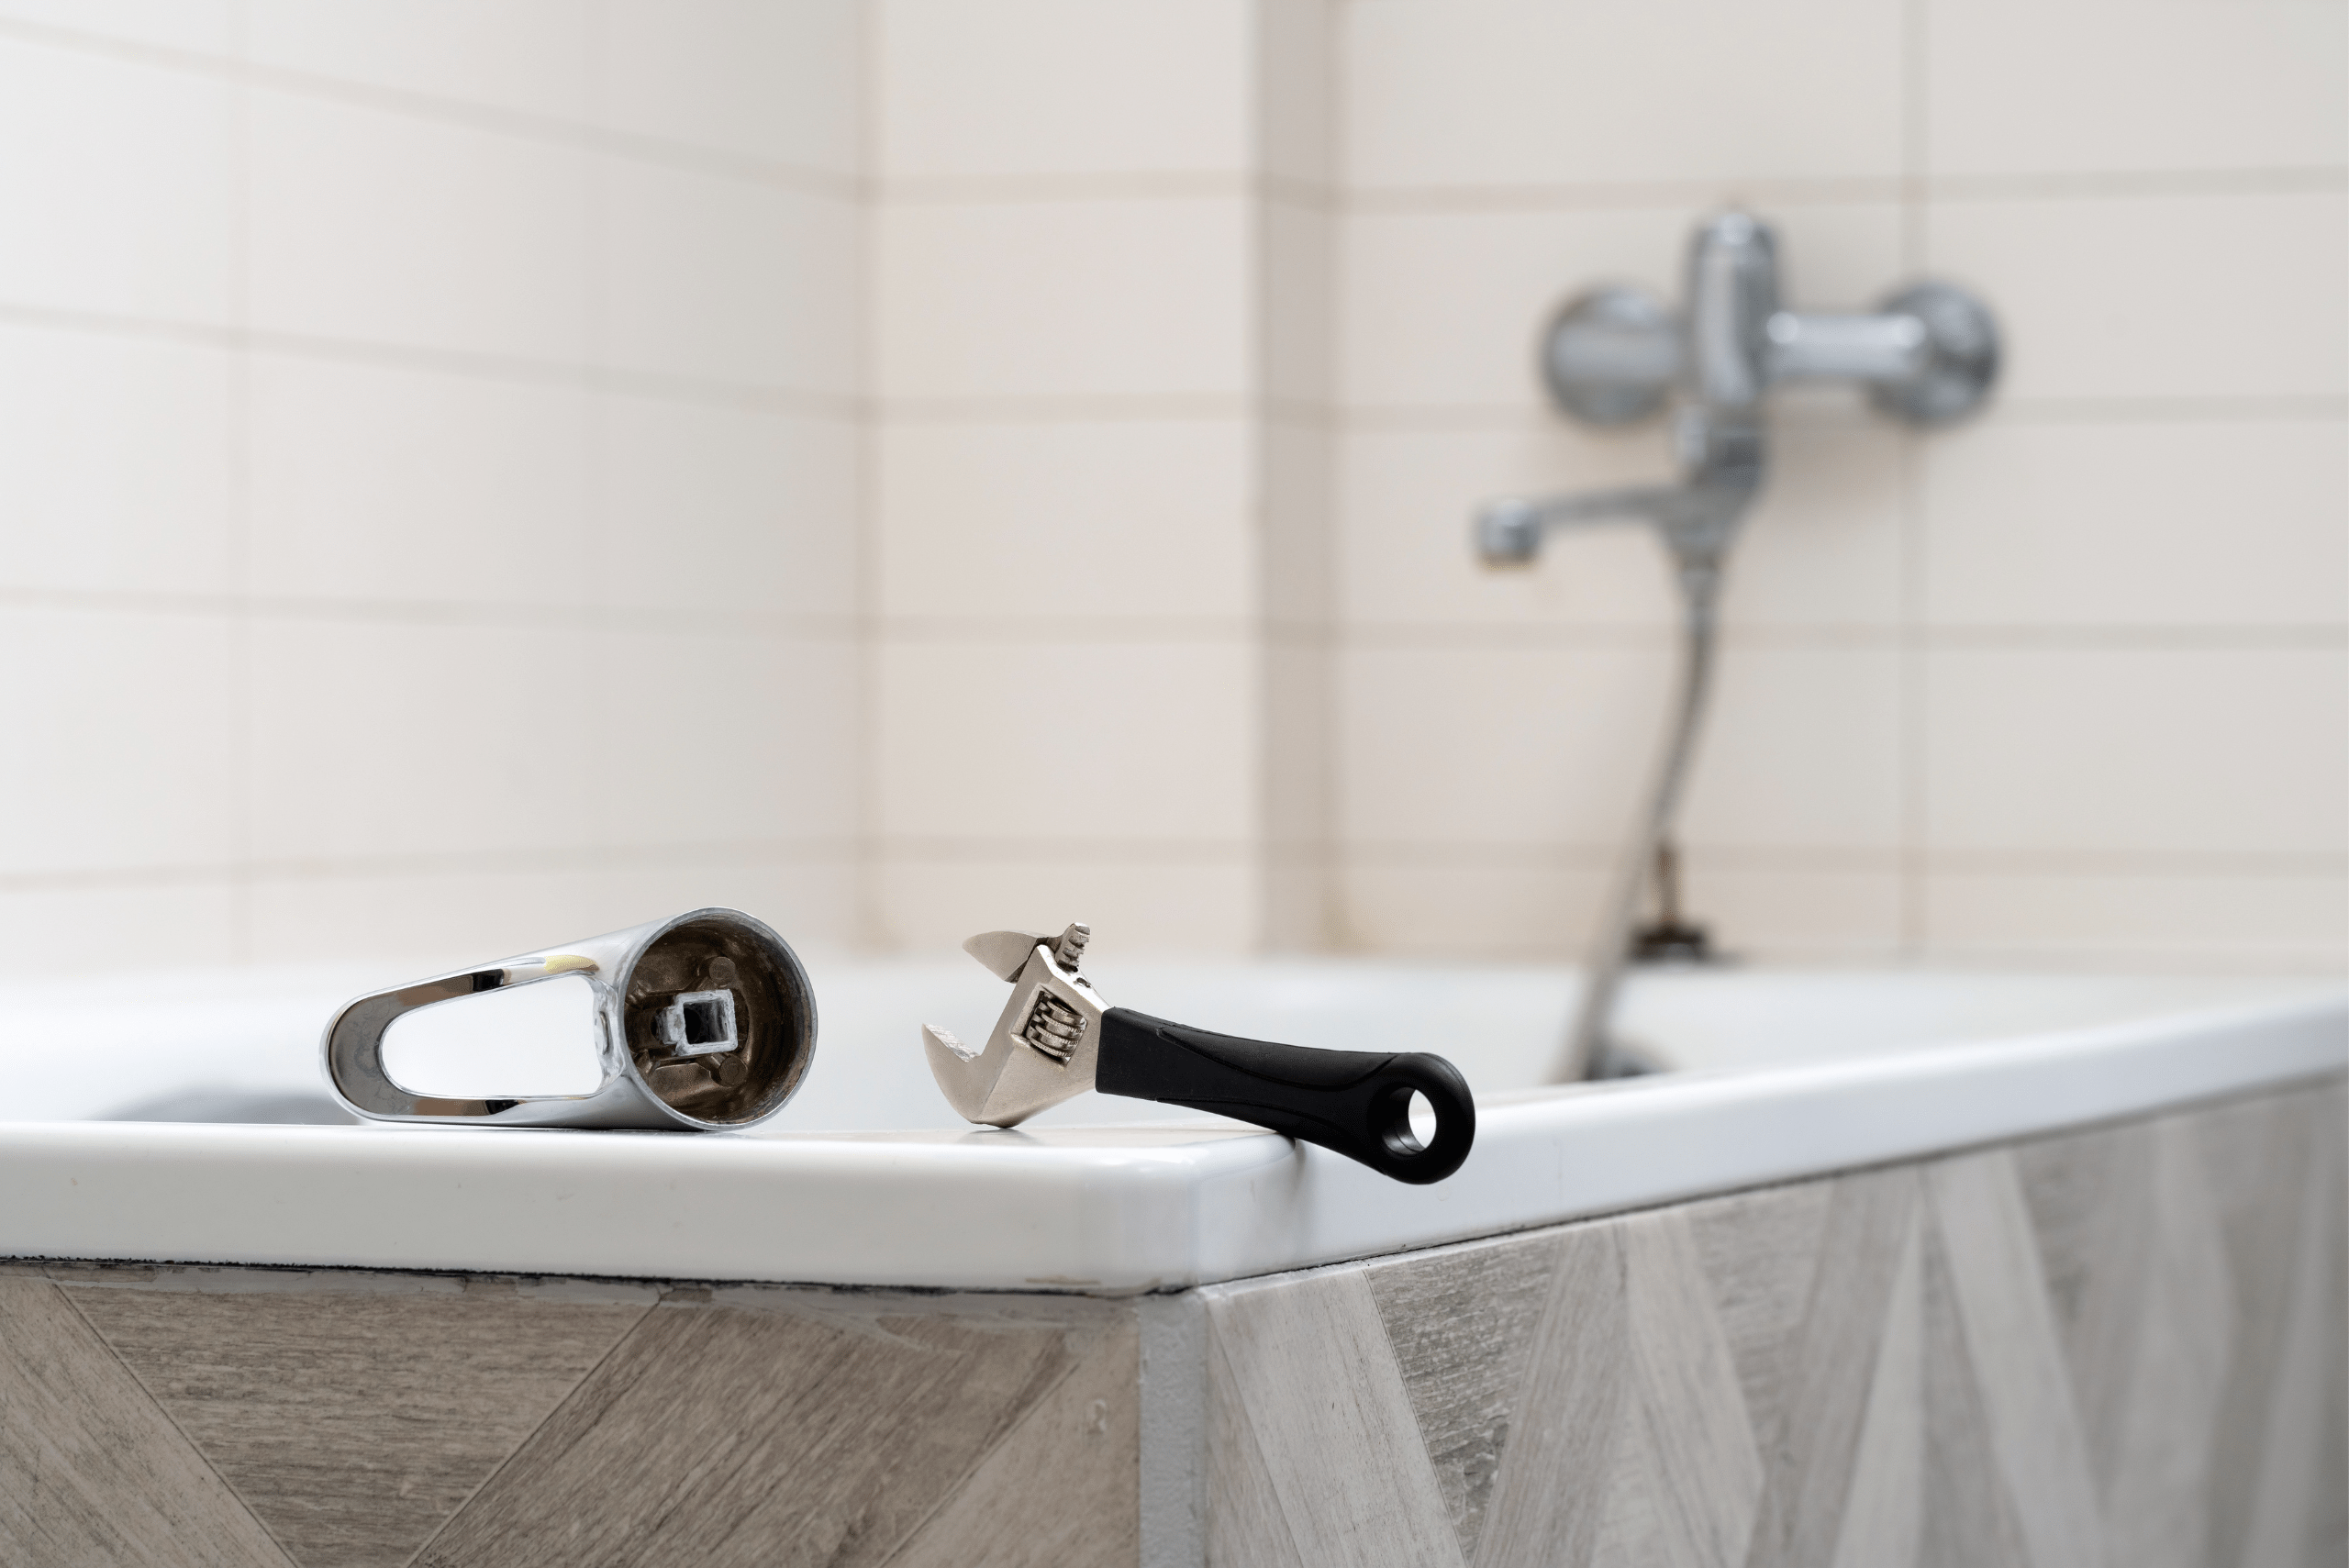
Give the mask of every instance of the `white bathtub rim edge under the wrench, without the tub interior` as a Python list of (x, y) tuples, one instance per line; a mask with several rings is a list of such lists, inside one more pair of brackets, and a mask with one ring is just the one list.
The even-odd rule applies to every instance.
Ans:
[[(1945, 1155), (2349, 1070), (2293, 1000), (1773, 1070), (1515, 1091), (1402, 1188), (1229, 1127), (773, 1138), (0, 1124), (0, 1256), (1146, 1291)], [(850, 1199), (836, 1207), (827, 1199)]]

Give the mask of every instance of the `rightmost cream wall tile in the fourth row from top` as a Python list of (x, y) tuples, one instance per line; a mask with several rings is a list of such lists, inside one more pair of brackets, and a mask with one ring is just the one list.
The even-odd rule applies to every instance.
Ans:
[(2330, 648), (1938, 648), (1929, 845), (2342, 854), (2344, 676)]

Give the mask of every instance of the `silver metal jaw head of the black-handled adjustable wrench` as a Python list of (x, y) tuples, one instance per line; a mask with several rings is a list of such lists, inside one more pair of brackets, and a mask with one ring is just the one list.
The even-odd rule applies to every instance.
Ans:
[[(1027, 958), (1012, 967), (1019, 939), (1029, 944)], [(1090, 1089), (1102, 1054), (1102, 1012), (1109, 1009), (1092, 984), (1062, 969), (1050, 937), (987, 932), (963, 946), (1012, 981), (1012, 995), (984, 1049), (972, 1052), (937, 1023), (921, 1026), (930, 1077), (956, 1115), (987, 1127), (1017, 1127)]]

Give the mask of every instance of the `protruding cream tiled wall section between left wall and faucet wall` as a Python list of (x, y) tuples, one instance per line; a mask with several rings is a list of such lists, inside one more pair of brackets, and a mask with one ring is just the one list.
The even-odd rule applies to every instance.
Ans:
[(876, 932), (1311, 941), (1325, 9), (874, 16)]

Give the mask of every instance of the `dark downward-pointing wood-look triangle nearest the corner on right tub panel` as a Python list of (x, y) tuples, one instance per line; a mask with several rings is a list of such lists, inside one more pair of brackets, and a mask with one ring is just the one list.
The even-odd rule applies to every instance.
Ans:
[(1367, 1265), (1379, 1322), (1468, 1561), (1485, 1533), (1510, 1401), (1525, 1383), (1555, 1261), (1555, 1242), (1510, 1237)]

